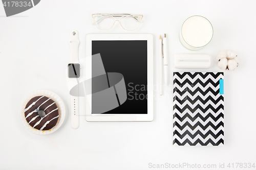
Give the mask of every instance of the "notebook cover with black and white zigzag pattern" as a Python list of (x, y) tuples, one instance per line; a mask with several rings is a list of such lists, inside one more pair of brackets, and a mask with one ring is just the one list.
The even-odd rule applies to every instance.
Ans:
[(174, 145), (223, 145), (223, 72), (174, 72)]

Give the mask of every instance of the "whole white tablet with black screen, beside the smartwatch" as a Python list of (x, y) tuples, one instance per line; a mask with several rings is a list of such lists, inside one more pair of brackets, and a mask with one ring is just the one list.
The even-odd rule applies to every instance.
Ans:
[(87, 34), (86, 120), (154, 119), (153, 35)]

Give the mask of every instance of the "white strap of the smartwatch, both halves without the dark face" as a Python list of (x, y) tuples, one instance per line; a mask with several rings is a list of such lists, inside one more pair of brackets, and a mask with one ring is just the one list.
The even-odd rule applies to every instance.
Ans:
[[(70, 33), (70, 63), (79, 63), (78, 62), (78, 48), (80, 41), (78, 39), (78, 32), (76, 30), (72, 30)], [(79, 83), (78, 78), (70, 78), (72, 82)], [(76, 83), (75, 83), (76, 84)], [(79, 88), (77, 88), (78, 90)], [(75, 92), (79, 94), (79, 91)], [(79, 96), (71, 95), (71, 127), (73, 129), (77, 129), (79, 127)]]

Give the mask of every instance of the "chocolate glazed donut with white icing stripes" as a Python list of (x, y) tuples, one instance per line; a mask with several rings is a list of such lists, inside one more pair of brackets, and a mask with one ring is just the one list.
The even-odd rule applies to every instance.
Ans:
[[(45, 111), (45, 115), (39, 115), (39, 110)], [(27, 103), (24, 113), (28, 124), (40, 131), (54, 128), (59, 117), (58, 107), (55, 102), (43, 95), (32, 98)]]

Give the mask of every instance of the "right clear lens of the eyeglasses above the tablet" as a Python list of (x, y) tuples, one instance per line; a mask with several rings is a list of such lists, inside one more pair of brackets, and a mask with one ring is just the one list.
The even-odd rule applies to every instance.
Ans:
[(136, 30), (140, 25), (138, 16), (125, 16), (120, 20), (122, 27), (125, 30)]

